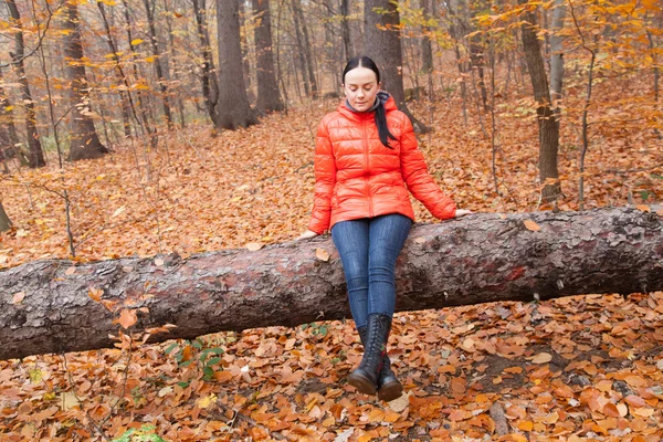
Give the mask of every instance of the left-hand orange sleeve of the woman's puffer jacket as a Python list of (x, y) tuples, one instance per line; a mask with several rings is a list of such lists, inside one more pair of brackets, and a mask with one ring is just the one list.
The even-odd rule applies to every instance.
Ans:
[(334, 193), (334, 186), (336, 186), (336, 160), (334, 159), (332, 141), (324, 119), (317, 129), (314, 169), (315, 191), (308, 230), (322, 234), (329, 229), (332, 194)]

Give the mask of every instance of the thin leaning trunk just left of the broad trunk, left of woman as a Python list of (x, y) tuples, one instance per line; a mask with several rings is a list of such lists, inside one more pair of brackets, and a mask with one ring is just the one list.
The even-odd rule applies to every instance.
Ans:
[(204, 106), (208, 115), (214, 127), (220, 127), (219, 114), (217, 113), (217, 102), (219, 101), (219, 83), (214, 74), (214, 61), (212, 59), (212, 45), (210, 34), (208, 32), (206, 19), (206, 0), (191, 0), (193, 3), (193, 12), (196, 14), (196, 29), (200, 46), (202, 49), (202, 96), (204, 97)]

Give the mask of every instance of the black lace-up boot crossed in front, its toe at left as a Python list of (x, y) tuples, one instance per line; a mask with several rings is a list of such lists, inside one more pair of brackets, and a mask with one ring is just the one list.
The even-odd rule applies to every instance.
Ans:
[(379, 313), (368, 315), (364, 358), (348, 377), (348, 383), (365, 394), (375, 394), (378, 390), (390, 328), (391, 317)]

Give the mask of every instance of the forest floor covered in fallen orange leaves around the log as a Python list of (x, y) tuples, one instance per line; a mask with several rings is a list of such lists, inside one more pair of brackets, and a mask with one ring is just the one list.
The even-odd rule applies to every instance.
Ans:
[[(81, 261), (290, 241), (313, 202), (317, 123), (336, 104), (312, 102), (218, 137), (190, 126), (156, 151), (135, 141), (99, 160), (2, 176), (14, 227), (0, 234), (0, 269), (69, 257), (64, 189)], [(538, 201), (530, 112), (499, 112), (495, 178), (490, 115), (484, 131), (472, 110), (464, 123), (459, 101), (440, 99), (432, 114), (411, 106), (434, 129), (420, 146), (459, 207), (550, 209)], [(579, 128), (561, 127), (559, 209), (577, 210)], [(586, 208), (660, 203), (653, 130), (608, 119), (591, 128)], [(419, 222), (434, 221), (414, 207)], [(136, 429), (166, 441), (657, 442), (661, 314), (662, 292), (400, 313), (390, 356), (407, 394), (391, 403), (346, 383), (361, 356), (351, 320), (0, 361), (0, 441), (129, 441)]]

